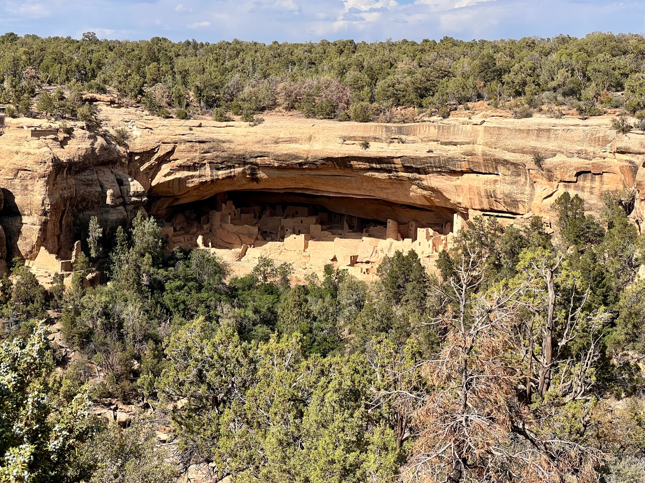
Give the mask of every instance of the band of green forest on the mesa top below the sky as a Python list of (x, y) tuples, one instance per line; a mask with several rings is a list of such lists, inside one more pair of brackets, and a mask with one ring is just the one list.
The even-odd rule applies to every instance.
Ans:
[(99, 40), (92, 32), (81, 40), (6, 33), (0, 46), (0, 104), (14, 106), (26, 106), (43, 86), (66, 84), (141, 96), (151, 110), (298, 109), (340, 120), (370, 120), (393, 106), (440, 110), (477, 99), (529, 108), (577, 102), (587, 115), (602, 113), (603, 105), (645, 109), (640, 34), (210, 44)]

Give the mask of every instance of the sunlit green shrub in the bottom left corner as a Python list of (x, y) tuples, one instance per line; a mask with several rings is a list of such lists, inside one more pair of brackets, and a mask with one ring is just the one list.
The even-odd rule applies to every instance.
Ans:
[(38, 325), (26, 342), (15, 337), (0, 345), (5, 482), (81, 481), (77, 475), (92, 467), (83, 461), (83, 446), (97, 429), (87, 388), (56, 374), (47, 334)]

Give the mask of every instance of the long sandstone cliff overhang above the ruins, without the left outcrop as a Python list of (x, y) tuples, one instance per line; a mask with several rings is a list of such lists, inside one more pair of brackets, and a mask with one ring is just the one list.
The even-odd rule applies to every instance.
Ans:
[[(617, 134), (607, 119), (475, 122), (268, 118), (249, 127), (149, 118), (134, 123), (128, 167), (148, 189), (150, 213), (161, 216), (215, 193), (255, 189), (548, 217), (564, 191), (579, 193), (595, 211), (603, 191), (638, 187), (644, 175), (642, 133)], [(542, 169), (534, 153), (546, 158)]]

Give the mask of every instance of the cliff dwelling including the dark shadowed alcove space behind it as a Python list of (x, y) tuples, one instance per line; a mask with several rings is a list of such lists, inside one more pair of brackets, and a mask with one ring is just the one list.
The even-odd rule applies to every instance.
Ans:
[(290, 261), (296, 275), (325, 265), (372, 279), (384, 256), (413, 249), (431, 267), (461, 215), (378, 198), (284, 191), (227, 191), (174, 207), (162, 231), (170, 248), (206, 249), (243, 274), (259, 256)]

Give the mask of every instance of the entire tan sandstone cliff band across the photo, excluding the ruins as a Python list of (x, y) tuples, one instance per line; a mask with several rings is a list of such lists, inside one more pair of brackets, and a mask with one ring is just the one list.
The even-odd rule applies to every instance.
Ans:
[[(8, 256), (33, 259), (45, 246), (67, 258), (83, 217), (97, 215), (109, 228), (141, 206), (164, 217), (239, 190), (362, 198), (355, 204), (373, 210), (378, 198), (446, 216), (541, 214), (548, 221), (564, 191), (597, 211), (604, 191), (635, 187), (633, 216), (642, 229), (644, 135), (615, 133), (608, 118), (393, 125), (267, 116), (248, 126), (163, 120), (134, 109), (100, 115), (97, 132), (77, 127), (71, 137), (32, 137), (14, 127), (0, 136)], [(119, 126), (132, 131), (127, 150), (110, 140)], [(534, 153), (546, 159), (542, 169)]]

